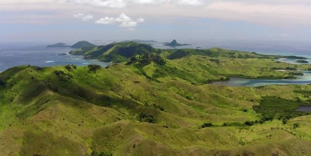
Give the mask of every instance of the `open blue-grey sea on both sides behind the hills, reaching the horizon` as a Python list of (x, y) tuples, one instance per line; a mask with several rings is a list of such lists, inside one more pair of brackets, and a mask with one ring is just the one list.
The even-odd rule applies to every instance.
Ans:
[[(170, 48), (163, 46), (163, 42), (170, 40), (156, 40), (153, 47)], [(177, 40), (181, 44), (191, 44), (177, 48), (211, 48), (222, 47), (233, 50), (243, 50), (271, 55), (296, 55), (311, 58), (311, 44), (304, 42), (263, 42), (263, 41), (232, 41), (232, 40)], [(92, 42), (92, 41), (90, 41)], [(94, 44), (104, 45), (114, 42), (96, 41)], [(17, 65), (37, 65), (54, 66), (76, 64), (85, 66), (87, 64), (100, 64), (106, 66), (108, 63), (97, 60), (85, 60), (82, 56), (59, 55), (69, 53), (69, 47), (45, 47), (49, 44), (36, 43), (0, 43), (0, 72)], [(294, 60), (280, 60), (284, 62), (294, 62)], [(311, 60), (310, 60), (311, 61)]]

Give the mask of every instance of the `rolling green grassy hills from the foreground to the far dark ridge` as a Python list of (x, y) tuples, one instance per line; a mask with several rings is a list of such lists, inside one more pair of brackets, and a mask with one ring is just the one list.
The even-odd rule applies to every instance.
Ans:
[(311, 85), (208, 84), (227, 76), (284, 78), (297, 73), (276, 69), (308, 69), (306, 64), (255, 54), (169, 60), (170, 50), (132, 42), (71, 53), (125, 62), (17, 66), (0, 73), (1, 156), (311, 153), (311, 115), (295, 111), (311, 105)]

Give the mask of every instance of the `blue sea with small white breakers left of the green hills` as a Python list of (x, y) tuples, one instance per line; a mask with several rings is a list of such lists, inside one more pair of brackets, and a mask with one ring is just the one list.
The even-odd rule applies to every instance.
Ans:
[(69, 47), (0, 47), (0, 72), (17, 65), (55, 66), (76, 64), (86, 66), (88, 64), (99, 64), (107, 66), (107, 62), (97, 60), (85, 60), (83, 56), (59, 55), (69, 53), (73, 50)]

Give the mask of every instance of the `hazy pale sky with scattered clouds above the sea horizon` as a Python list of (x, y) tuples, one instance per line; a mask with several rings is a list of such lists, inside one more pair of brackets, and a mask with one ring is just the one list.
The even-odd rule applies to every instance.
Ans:
[(311, 41), (311, 0), (0, 0), (0, 43)]

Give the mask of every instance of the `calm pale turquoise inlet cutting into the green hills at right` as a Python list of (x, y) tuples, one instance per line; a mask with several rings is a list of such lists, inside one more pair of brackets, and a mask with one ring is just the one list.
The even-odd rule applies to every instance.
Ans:
[(311, 84), (311, 71), (303, 71), (304, 76), (297, 76), (297, 79), (248, 79), (248, 78), (230, 78), (228, 81), (214, 82), (213, 84), (227, 86), (250, 86), (258, 87), (264, 85), (286, 85), (286, 84)]

